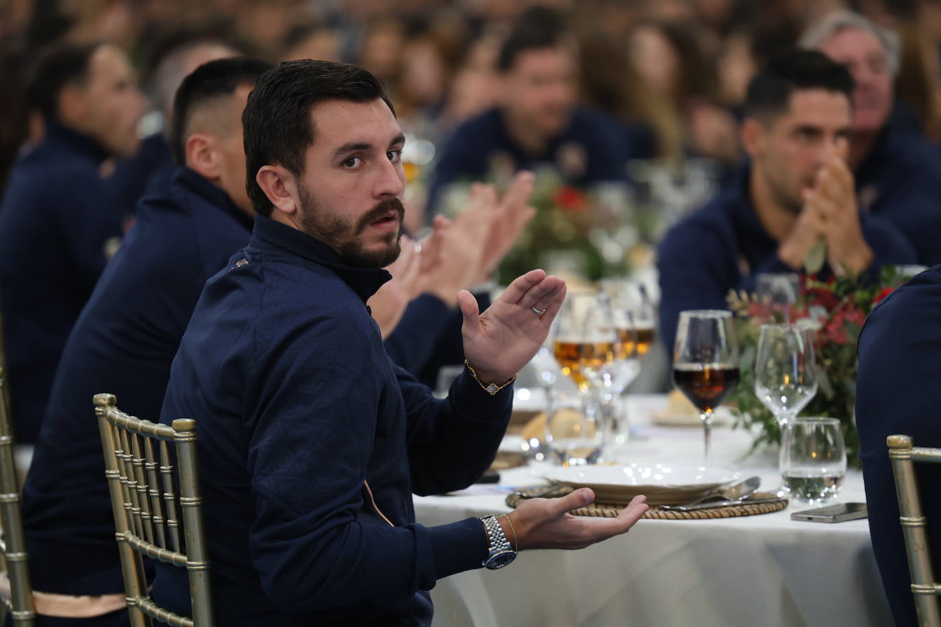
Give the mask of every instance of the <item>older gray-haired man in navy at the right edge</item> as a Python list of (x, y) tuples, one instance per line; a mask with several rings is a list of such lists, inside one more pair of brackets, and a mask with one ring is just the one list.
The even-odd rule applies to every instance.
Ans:
[(863, 209), (899, 227), (919, 263), (941, 263), (941, 158), (897, 104), (898, 35), (840, 10), (811, 24), (800, 39), (853, 73), (849, 163)]

